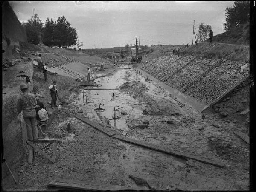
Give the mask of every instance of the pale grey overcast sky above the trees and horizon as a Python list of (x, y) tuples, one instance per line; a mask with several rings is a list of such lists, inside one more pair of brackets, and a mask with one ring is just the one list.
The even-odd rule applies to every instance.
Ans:
[[(64, 15), (82, 48), (134, 45), (191, 44), (200, 23), (210, 24), (213, 35), (224, 32), (225, 8), (233, 1), (12, 1), (20, 22), (33, 12), (43, 23)], [(140, 40), (139, 40), (140, 39)], [(195, 43), (195, 38), (194, 38)]]

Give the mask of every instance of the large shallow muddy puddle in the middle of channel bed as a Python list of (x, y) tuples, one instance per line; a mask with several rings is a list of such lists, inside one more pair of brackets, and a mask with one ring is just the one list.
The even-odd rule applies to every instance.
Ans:
[[(130, 68), (130, 69), (128, 69)], [(146, 93), (157, 99), (168, 99), (171, 102), (176, 102), (172, 97), (170, 97), (170, 93), (163, 90), (162, 88), (158, 88), (157, 85), (154, 85), (151, 82), (145, 81), (146, 77), (141, 76), (133, 70), (132, 65), (124, 65), (122, 68), (116, 68), (116, 71), (111, 72), (113, 75), (100, 77), (95, 80), (95, 82), (99, 83), (99, 88), (105, 89), (114, 89), (119, 88), (120, 85), (129, 82), (129, 81), (138, 81), (145, 84), (148, 87)], [(97, 76), (101, 76), (101, 74), (97, 74)], [(83, 96), (84, 91), (84, 96)], [(97, 112), (98, 116), (104, 118), (104, 121), (108, 119), (109, 125), (111, 127), (116, 127), (116, 129), (123, 130), (123, 133), (127, 133), (130, 129), (126, 122), (129, 119), (138, 119), (142, 117), (144, 118), (143, 113), (143, 105), (139, 105), (136, 99), (121, 93), (119, 90), (83, 90), (81, 88), (79, 90), (79, 96), (76, 101), (72, 102), (80, 107), (81, 110), (87, 111), (87, 113), (95, 113)], [(115, 109), (116, 109), (116, 118), (114, 117), (114, 100), (115, 100)], [(87, 97), (87, 104), (86, 102)], [(176, 102), (177, 103), (177, 102)], [(97, 108), (104, 110), (95, 110)], [(122, 107), (122, 108), (121, 108)], [(118, 110), (118, 108), (121, 108)], [(87, 110), (85, 110), (87, 109)], [(89, 111), (89, 112), (88, 112)], [(121, 113), (122, 112), (122, 113)], [(92, 116), (91, 114), (84, 114)]]

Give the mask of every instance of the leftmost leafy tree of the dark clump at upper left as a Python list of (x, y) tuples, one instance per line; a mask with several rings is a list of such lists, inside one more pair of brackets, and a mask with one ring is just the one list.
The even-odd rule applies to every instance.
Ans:
[(28, 41), (32, 44), (38, 44), (42, 41), (43, 35), (43, 23), (38, 17), (38, 14), (34, 14), (26, 23), (23, 23), (26, 30)]

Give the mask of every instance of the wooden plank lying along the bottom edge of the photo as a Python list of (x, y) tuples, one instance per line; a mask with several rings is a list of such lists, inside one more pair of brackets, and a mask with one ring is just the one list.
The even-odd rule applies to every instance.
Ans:
[(79, 190), (90, 190), (90, 191), (117, 191), (117, 190), (140, 190), (141, 188), (131, 188), (120, 185), (113, 184), (99, 184), (90, 183), (85, 181), (74, 181), (74, 180), (62, 180), (56, 179), (56, 181), (51, 181), (48, 187), (61, 187), (66, 189), (79, 189)]

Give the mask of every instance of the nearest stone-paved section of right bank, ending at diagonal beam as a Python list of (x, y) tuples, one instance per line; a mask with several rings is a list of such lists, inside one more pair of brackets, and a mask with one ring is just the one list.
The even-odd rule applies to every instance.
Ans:
[(248, 73), (249, 64), (224, 59), (211, 71), (193, 82), (184, 93), (209, 104)]

